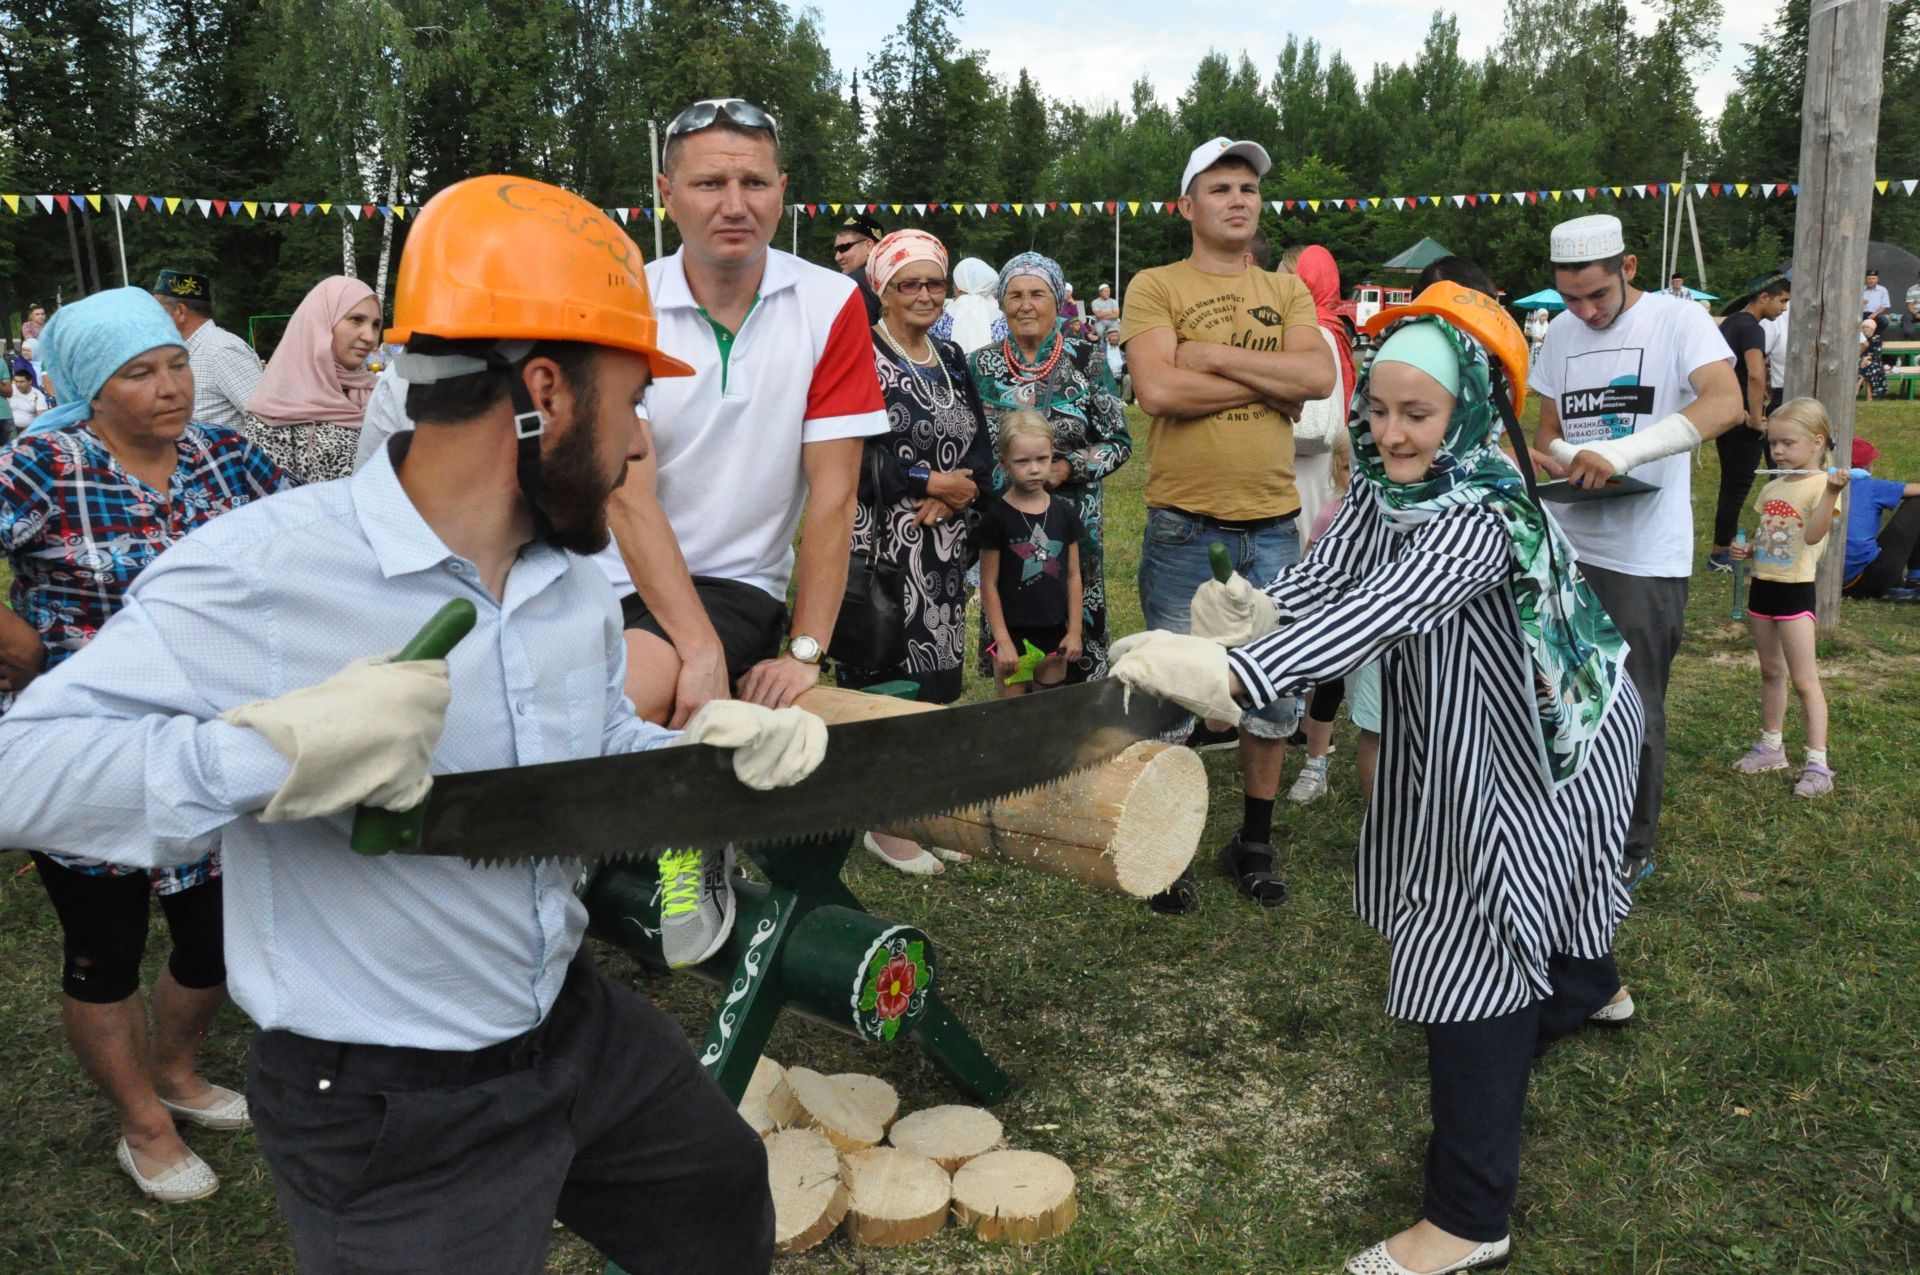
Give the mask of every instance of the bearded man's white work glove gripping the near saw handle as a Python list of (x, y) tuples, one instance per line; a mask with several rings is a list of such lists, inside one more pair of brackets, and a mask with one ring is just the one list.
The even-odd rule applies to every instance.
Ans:
[(447, 724), (445, 661), (353, 661), (319, 686), (255, 699), (221, 714), (294, 762), (261, 810), (267, 824), (340, 814), (359, 805), (409, 810)]

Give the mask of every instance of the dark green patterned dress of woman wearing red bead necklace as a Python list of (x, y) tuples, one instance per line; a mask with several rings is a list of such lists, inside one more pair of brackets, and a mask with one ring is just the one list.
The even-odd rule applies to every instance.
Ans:
[[(1052, 357), (1060, 332), (1041, 346), (1037, 363)], [(1020, 380), (1006, 359), (1006, 344), (995, 342), (972, 355), (973, 384), (987, 407), (989, 428), (998, 430), (1000, 417), (1021, 407), (1041, 411), (1054, 426), (1054, 449), (1068, 459), (1073, 476), (1058, 495), (1073, 503), (1081, 520), (1081, 636), (1085, 653), (1079, 666), (1068, 670), (1068, 682), (1106, 676), (1106, 517), (1102, 513), (1100, 482), (1133, 455), (1127, 434), (1127, 409), (1114, 394), (1114, 376), (1106, 355), (1085, 342), (1066, 338), (1068, 348), (1052, 373), (1039, 384)], [(1018, 351), (1016, 351), (1018, 353)], [(998, 440), (998, 432), (995, 432)], [(993, 486), (1006, 490), (1006, 474), (995, 469)], [(981, 618), (985, 626), (985, 618)], [(981, 651), (987, 649), (983, 639)], [(981, 657), (981, 672), (991, 674), (991, 662)]]

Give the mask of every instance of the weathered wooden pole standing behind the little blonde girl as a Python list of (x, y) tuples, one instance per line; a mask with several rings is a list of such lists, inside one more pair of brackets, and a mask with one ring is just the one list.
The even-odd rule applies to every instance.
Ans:
[[(1885, 48), (1885, 0), (1812, 0), (1801, 102), (1801, 190), (1793, 217), (1788, 394), (1807, 394), (1826, 405), (1834, 419), (1836, 465), (1847, 465), (1853, 455), (1860, 288), (1874, 221)], [(1845, 561), (1847, 538), (1828, 536), (1816, 589), (1820, 628), (1839, 622)]]

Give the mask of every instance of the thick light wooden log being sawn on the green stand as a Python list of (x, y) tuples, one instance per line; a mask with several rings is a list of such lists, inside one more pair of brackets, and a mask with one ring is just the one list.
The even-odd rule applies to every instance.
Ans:
[[(801, 707), (829, 724), (939, 712), (935, 705), (835, 687), (806, 691)], [(1192, 862), (1206, 803), (1200, 757), (1144, 739), (1043, 789), (881, 831), (1146, 899)]]

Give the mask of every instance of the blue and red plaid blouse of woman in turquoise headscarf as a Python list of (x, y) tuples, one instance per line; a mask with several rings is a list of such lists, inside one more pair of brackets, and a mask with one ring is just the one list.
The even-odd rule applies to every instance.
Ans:
[[(190, 424), (175, 444), (180, 463), (159, 495), (83, 426), (35, 434), (0, 451), (0, 549), (13, 566), (13, 613), (46, 643), (52, 668), (113, 618), (134, 576), (207, 518), (294, 486), (273, 459), (234, 430)], [(0, 691), (0, 712), (13, 695)], [(88, 874), (119, 876), (92, 858), (54, 856)], [(219, 876), (215, 854), (156, 868), (171, 895)]]

